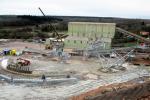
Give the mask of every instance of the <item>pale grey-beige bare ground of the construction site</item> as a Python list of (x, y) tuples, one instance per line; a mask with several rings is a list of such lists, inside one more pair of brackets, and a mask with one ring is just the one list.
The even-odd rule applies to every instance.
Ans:
[[(25, 47), (36, 49), (45, 53), (49, 50), (44, 50), (44, 45), (39, 43), (29, 42), (3, 42), (0, 44), (0, 49), (17, 49), (22, 51)], [(76, 99), (81, 94), (95, 90), (99, 87), (107, 87), (113, 84), (141, 79), (147, 77), (142, 83), (149, 80), (150, 66), (135, 66), (127, 63), (126, 70), (116, 73), (103, 73), (99, 71), (101, 65), (96, 58), (83, 60), (83, 57), (74, 56), (67, 61), (67, 64), (61, 63), (56, 59), (41, 54), (26, 53), (20, 56), (5, 56), (5, 58), (22, 57), (31, 61), (30, 67), (33, 70), (32, 75), (22, 75), (11, 73), (0, 68), (0, 74), (13, 76), (17, 78), (41, 78), (45, 74), (50, 78), (62, 78), (70, 75), (77, 78), (76, 83), (59, 84), (59, 85), (33, 85), (33, 84), (9, 84), (3, 80), (0, 81), (0, 100), (63, 100)], [(4, 56), (1, 56), (1, 59)], [(113, 58), (110, 60), (114, 60)], [(134, 81), (135, 83), (141, 82)], [(131, 82), (129, 82), (130, 84)], [(74, 98), (73, 98), (74, 97)], [(80, 99), (85, 99), (83, 96)]]

